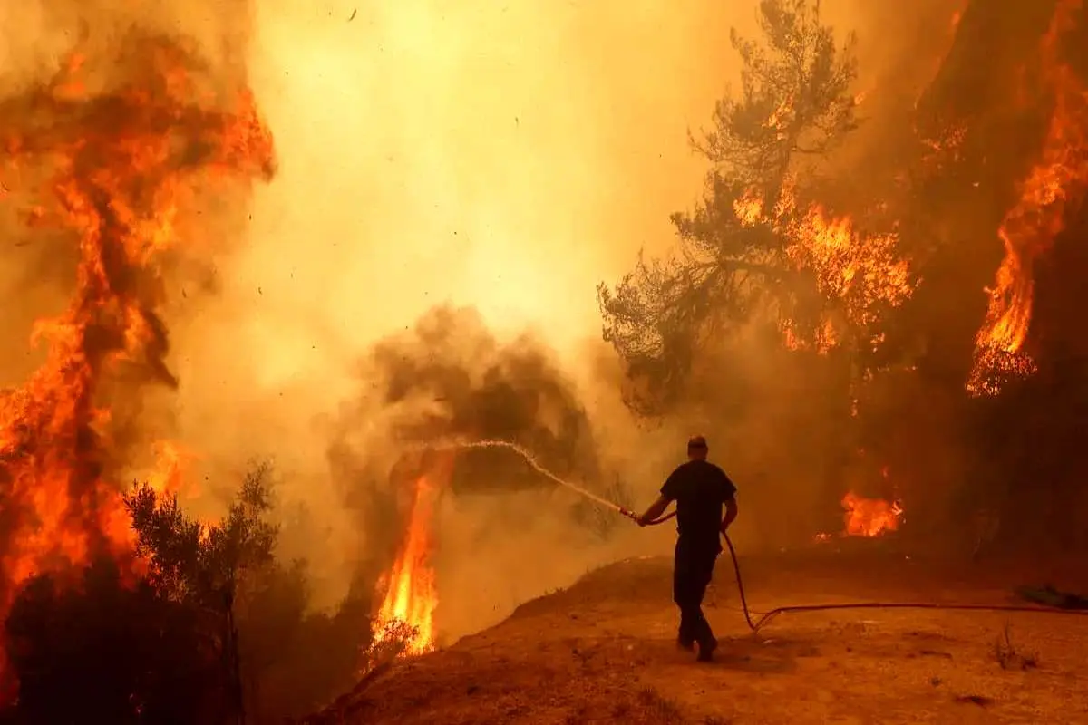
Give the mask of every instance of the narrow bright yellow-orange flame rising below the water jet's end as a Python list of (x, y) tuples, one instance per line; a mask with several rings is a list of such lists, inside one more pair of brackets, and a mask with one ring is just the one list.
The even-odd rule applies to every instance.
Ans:
[(373, 645), (380, 645), (398, 626), (409, 630), (403, 654), (418, 655), (434, 649), (434, 610), (438, 603), (434, 570), (430, 565), (431, 525), (440, 485), (449, 472), (444, 457), (432, 473), (416, 479), (408, 528), (393, 568), (380, 583), (385, 589), (378, 610)]

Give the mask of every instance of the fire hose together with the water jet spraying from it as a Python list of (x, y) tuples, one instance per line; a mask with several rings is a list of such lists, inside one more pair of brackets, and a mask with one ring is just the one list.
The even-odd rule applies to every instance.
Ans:
[[(471, 449), (471, 448), (505, 448), (514, 451), (532, 467), (536, 473), (541, 474), (545, 478), (548, 478), (555, 484), (571, 490), (583, 498), (586, 498), (598, 505), (610, 509), (621, 516), (626, 516), (632, 521), (638, 521), (639, 516), (629, 509), (626, 509), (618, 503), (614, 503), (605, 498), (597, 496), (591, 491), (585, 490), (580, 486), (564, 480), (559, 476), (555, 475), (543, 465), (541, 465), (536, 458), (528, 451), (526, 448), (507, 440), (454, 440), (446, 443), (446, 447), (453, 449)], [(657, 526), (658, 524), (664, 524), (673, 516), (677, 515), (676, 510), (658, 517), (653, 521), (646, 522), (647, 526)], [(1075, 609), (1061, 609), (1058, 607), (1026, 607), (1016, 604), (952, 604), (952, 603), (939, 603), (939, 602), (881, 602), (881, 601), (863, 601), (863, 602), (849, 602), (849, 603), (838, 603), (838, 604), (791, 604), (788, 607), (776, 607), (772, 610), (766, 612), (753, 612), (749, 609), (747, 598), (744, 593), (744, 579), (741, 576), (741, 566), (737, 557), (737, 549), (733, 548), (733, 542), (729, 538), (729, 534), (722, 532), (722, 538), (726, 540), (726, 546), (729, 548), (729, 555), (733, 563), (733, 575), (737, 579), (737, 590), (741, 597), (741, 607), (744, 612), (744, 622), (747, 624), (749, 629), (753, 633), (759, 632), (763, 627), (770, 624), (770, 622), (777, 617), (779, 614), (793, 614), (801, 612), (828, 612), (834, 610), (863, 610), (863, 609), (913, 609), (913, 610), (945, 610), (945, 611), (968, 611), (968, 612), (1034, 612), (1037, 614), (1073, 614), (1085, 616), (1088, 615), (1086, 610), (1075, 610)], [(753, 621), (752, 614), (758, 614), (759, 618)]]

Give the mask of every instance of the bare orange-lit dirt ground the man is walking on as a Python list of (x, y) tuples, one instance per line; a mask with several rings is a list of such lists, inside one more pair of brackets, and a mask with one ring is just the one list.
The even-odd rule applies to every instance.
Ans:
[[(628, 560), (502, 624), (398, 662), (314, 723), (1088, 723), (1088, 616), (936, 610), (783, 614), (752, 635), (728, 552), (707, 596), (721, 648), (675, 646), (670, 560)], [(1024, 604), (1088, 578), (1038, 561), (952, 564), (845, 541), (741, 561), (750, 604)], [(1049, 568), (1049, 571), (1048, 571)], [(1074, 588), (1075, 590), (1075, 588)], [(1011, 643), (1010, 643), (1011, 642)]]

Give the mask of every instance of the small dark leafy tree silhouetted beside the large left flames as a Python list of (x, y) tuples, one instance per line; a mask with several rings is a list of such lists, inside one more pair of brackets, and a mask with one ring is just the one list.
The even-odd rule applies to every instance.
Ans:
[(235, 721), (282, 722), (325, 704), (356, 675), (370, 641), (369, 601), (310, 612), (308, 566), (283, 562), (272, 513), (272, 470), (247, 473), (226, 516), (202, 525), (177, 498), (139, 486), (126, 503), (148, 580), (201, 613)]

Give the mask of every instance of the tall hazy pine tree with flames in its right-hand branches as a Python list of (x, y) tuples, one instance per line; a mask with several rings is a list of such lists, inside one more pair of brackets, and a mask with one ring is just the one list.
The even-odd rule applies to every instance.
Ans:
[[(842, 279), (862, 259), (860, 235), (803, 203), (818, 186), (815, 164), (857, 125), (854, 38), (837, 48), (819, 10), (819, 0), (762, 0), (763, 42), (731, 32), (741, 95), (718, 101), (713, 128), (692, 139), (712, 168), (695, 209), (671, 217), (677, 253), (640, 255), (614, 289), (597, 287), (604, 338), (643, 384), (635, 408), (673, 400), (701, 342), (725, 324), (777, 313), (799, 342), (827, 347), (837, 325), (875, 315), (863, 288), (888, 279)], [(889, 238), (875, 247), (880, 264), (894, 260)]]

